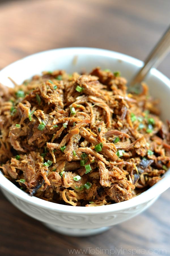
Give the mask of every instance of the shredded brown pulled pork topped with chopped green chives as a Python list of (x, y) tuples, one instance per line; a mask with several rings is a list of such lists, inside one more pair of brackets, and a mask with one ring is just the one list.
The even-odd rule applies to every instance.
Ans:
[(99, 68), (0, 85), (0, 168), (46, 201), (89, 207), (131, 199), (170, 166), (170, 125), (156, 104), (145, 84), (128, 94), (124, 78)]

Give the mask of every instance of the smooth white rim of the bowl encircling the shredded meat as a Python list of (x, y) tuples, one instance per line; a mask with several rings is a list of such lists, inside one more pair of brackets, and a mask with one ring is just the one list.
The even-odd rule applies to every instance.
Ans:
[[(22, 59), (19, 59), (11, 64), (9, 64), (7, 67), (3, 68), (0, 71), (0, 74), (6, 71), (8, 68), (11, 68), (13, 65), (16, 65), (18, 62), (22, 62), (25, 60), (29, 60), (31, 58), (35, 58), (39, 55), (46, 55), (49, 52), (60, 52), (61, 53), (68, 53), (71, 52), (71, 55), (77, 55), (77, 54), (91, 54), (91, 55), (100, 55), (102, 56), (109, 56), (113, 59), (119, 59), (122, 61), (126, 61), (130, 64), (135, 65), (136, 67), (140, 68), (143, 65), (143, 61), (136, 59), (134, 57), (131, 57), (129, 55), (119, 53), (116, 51), (111, 51), (107, 49), (100, 49), (100, 48), (88, 48), (88, 47), (69, 47), (69, 48), (57, 48), (57, 49), (50, 49), (46, 51), (41, 51), (38, 53), (34, 53), (31, 55), (28, 55), (27, 57), (24, 57)], [(160, 71), (157, 69), (152, 69), (150, 73), (156, 77), (158, 80), (162, 80), (167, 86), (169, 86), (170, 90), (170, 80), (163, 75)], [(33, 74), (34, 75), (34, 74)], [(73, 207), (71, 205), (61, 205), (58, 203), (52, 203), (45, 201), (43, 199), (37, 198), (37, 197), (31, 197), (29, 194), (25, 193), (16, 185), (14, 185), (11, 181), (9, 181), (0, 171), (0, 187), (1, 190), (4, 189), (7, 191), (7, 193), (10, 193), (14, 197), (17, 197), (18, 199), (25, 201), (26, 203), (29, 203), (31, 205), (35, 205), (40, 208), (46, 208), (47, 210), (54, 210), (57, 212), (63, 212), (63, 213), (74, 213), (74, 214), (103, 214), (105, 212), (117, 212), (122, 211), (128, 208), (137, 207), (138, 205), (145, 204), (146, 202), (152, 200), (155, 197), (158, 197), (161, 193), (163, 193), (166, 189), (169, 188), (168, 184), (168, 178), (170, 178), (170, 170), (166, 172), (166, 178), (163, 177), (158, 183), (156, 183), (154, 186), (150, 187), (148, 190), (144, 191), (140, 195), (137, 195), (133, 197), (132, 199), (129, 199), (128, 201), (123, 201), (120, 203), (114, 203), (111, 205), (103, 205), (103, 206), (96, 206), (96, 207), (80, 207), (76, 206)], [(5, 194), (5, 191), (4, 194)], [(86, 209), (86, 210), (84, 210)]]

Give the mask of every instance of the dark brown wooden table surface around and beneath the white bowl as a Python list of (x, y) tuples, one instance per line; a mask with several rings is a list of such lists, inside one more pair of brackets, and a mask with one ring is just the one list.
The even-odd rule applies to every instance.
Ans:
[[(0, 69), (46, 49), (88, 46), (144, 60), (170, 23), (169, 0), (26, 0), (0, 3)], [(167, 77), (170, 55), (158, 67)], [(170, 255), (170, 190), (148, 210), (88, 238), (52, 232), (0, 194), (0, 255)], [(102, 250), (103, 249), (103, 252)], [(117, 251), (114, 253), (114, 250)]]

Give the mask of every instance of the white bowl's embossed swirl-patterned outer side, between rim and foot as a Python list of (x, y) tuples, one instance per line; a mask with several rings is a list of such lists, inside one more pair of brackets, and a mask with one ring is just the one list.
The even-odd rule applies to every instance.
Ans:
[(35, 206), (31, 204), (31, 202), (27, 203), (24, 200), (11, 195), (7, 191), (3, 191), (3, 193), (13, 205), (25, 214), (39, 221), (45, 222), (46, 224), (53, 224), (67, 228), (100, 228), (112, 226), (134, 217), (148, 208), (157, 199), (156, 197), (146, 201), (145, 203), (123, 210), (113, 210), (113, 212), (107, 212), (106, 210), (104, 214), (97, 214), (95, 212), (87, 214), (86, 207), (84, 207), (84, 214), (76, 213), (76, 210), (75, 213), (72, 214), (58, 211), (56, 209), (46, 209), (44, 207)]

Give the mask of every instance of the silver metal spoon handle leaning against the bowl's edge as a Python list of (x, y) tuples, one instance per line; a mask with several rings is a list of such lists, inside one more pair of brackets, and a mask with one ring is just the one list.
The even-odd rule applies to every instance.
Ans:
[(154, 49), (151, 51), (147, 59), (145, 60), (144, 66), (139, 70), (139, 72), (133, 77), (129, 85), (132, 87), (137, 83), (141, 83), (147, 73), (150, 71), (152, 67), (156, 67), (163, 57), (170, 50), (170, 26), (158, 42)]

